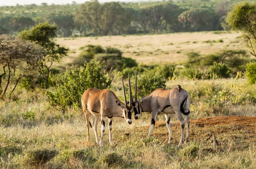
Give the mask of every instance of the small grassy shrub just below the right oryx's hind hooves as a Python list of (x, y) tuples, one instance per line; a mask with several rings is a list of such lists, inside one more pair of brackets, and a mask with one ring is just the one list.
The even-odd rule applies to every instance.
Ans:
[(192, 143), (191, 145), (180, 149), (179, 155), (181, 158), (193, 159), (198, 155), (199, 145), (198, 143)]

